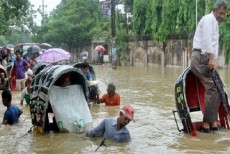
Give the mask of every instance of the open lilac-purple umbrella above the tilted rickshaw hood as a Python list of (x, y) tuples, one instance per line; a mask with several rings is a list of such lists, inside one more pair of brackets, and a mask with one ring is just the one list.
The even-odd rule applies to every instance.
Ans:
[(69, 60), (70, 53), (61, 48), (45, 50), (37, 59), (38, 63), (56, 63), (62, 60)]

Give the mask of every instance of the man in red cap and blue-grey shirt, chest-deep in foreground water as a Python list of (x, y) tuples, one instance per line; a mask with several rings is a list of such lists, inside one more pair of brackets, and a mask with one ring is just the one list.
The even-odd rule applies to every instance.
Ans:
[(131, 137), (126, 126), (131, 120), (134, 121), (134, 109), (131, 105), (125, 105), (121, 108), (118, 118), (104, 119), (97, 127), (88, 131), (86, 136), (129, 142)]

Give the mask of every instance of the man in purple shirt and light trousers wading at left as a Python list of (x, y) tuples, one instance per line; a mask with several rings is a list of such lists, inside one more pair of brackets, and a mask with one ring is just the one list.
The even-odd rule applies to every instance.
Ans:
[(27, 67), (29, 64), (21, 58), (21, 53), (19, 50), (16, 50), (16, 60), (14, 61), (14, 64), (10, 71), (10, 77), (12, 75), (13, 70), (16, 70), (16, 90), (22, 91), (25, 88), (25, 81), (26, 81), (26, 75), (25, 71), (27, 70)]

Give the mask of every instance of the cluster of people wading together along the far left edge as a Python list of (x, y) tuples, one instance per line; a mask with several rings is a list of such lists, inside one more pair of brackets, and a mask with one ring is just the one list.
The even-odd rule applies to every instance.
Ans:
[[(12, 74), (13, 70), (16, 72), (16, 90), (22, 91), (23, 99), (21, 99), (21, 104), (23, 104), (23, 100), (26, 98), (26, 102), (29, 102), (29, 86), (26, 87), (26, 83), (30, 83), (31, 72), (27, 75), (27, 70), (30, 67), (28, 62), (21, 58), (21, 53), (17, 50), (15, 53), (11, 52), (10, 49), (3, 49), (2, 51), (9, 51), (5, 56), (2, 56), (2, 65), (6, 66), (7, 63), (11, 63), (11, 69), (7, 72), (7, 68), (4, 70), (2, 67), (0, 72), (0, 90), (2, 90), (2, 102), (3, 105), (7, 107), (7, 110), (4, 113), (2, 124), (16, 124), (18, 122), (18, 118), (22, 114), (22, 110), (20, 110), (16, 105), (11, 103), (12, 100)], [(3, 52), (2, 52), (3, 53)], [(4, 52), (5, 53), (5, 52)], [(3, 55), (3, 54), (2, 54)], [(11, 56), (13, 55), (13, 56)], [(4, 57), (4, 58), (3, 58)], [(14, 57), (14, 58), (9, 58)], [(33, 75), (33, 74), (32, 74)], [(28, 84), (27, 84), (28, 85)], [(24, 94), (25, 91), (27, 95)]]

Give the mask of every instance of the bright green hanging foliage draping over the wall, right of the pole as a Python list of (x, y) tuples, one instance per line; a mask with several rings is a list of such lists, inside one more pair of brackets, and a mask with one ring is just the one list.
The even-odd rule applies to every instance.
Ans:
[[(197, 16), (196, 16), (197, 2)], [(216, 0), (134, 0), (132, 10), (133, 32), (137, 35), (151, 33), (154, 41), (164, 43), (175, 35), (186, 35), (192, 39), (196, 29), (196, 21), (212, 11)], [(230, 4), (230, 0), (227, 0)], [(148, 6), (151, 7), (147, 7)], [(149, 28), (148, 22), (151, 22)], [(225, 62), (230, 59), (230, 19), (220, 27), (221, 47), (225, 51)], [(148, 29), (147, 29), (148, 28)], [(146, 31), (147, 29), (147, 31)]]

